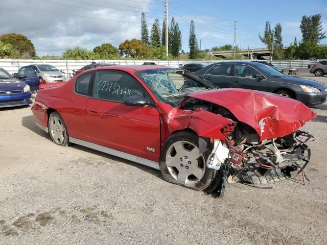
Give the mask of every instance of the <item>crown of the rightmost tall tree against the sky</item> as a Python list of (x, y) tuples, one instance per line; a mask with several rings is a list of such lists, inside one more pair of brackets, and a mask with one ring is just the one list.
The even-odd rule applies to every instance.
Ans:
[(321, 15), (302, 16), (300, 30), (302, 33), (302, 43), (306, 41), (320, 42), (326, 37), (326, 32), (322, 32)]

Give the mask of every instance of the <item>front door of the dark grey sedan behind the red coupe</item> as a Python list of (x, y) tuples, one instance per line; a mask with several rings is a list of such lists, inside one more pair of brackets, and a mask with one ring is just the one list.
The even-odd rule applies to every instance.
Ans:
[[(258, 70), (244, 64), (235, 64), (234, 67), (234, 76), (231, 82), (233, 88), (268, 91), (268, 80)], [(256, 78), (256, 75), (261, 75), (262, 79)]]

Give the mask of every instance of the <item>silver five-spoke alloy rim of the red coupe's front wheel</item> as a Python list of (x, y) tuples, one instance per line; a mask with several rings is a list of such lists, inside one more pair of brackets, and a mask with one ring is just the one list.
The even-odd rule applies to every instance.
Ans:
[(205, 173), (203, 154), (188, 141), (176, 141), (169, 147), (166, 166), (172, 178), (185, 185), (198, 183)]

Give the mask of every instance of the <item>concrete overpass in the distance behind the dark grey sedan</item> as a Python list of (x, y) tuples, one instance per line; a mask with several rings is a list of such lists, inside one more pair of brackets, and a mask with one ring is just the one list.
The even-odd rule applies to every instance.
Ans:
[[(243, 57), (249, 56), (252, 59), (261, 59), (264, 56), (270, 56), (270, 50), (268, 48), (253, 48), (251, 50), (239, 50), (237, 51), (237, 54), (243, 55)], [(208, 55), (215, 56), (215, 57), (221, 57), (221, 58), (228, 58), (232, 57), (234, 55), (234, 51), (210, 51), (208, 52)]]

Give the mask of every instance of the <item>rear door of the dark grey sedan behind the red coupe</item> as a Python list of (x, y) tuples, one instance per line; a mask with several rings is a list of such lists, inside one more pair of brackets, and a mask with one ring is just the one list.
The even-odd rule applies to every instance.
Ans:
[(231, 71), (232, 64), (217, 64), (207, 70), (204, 75), (200, 75), (200, 77), (203, 77), (219, 88), (230, 88)]

